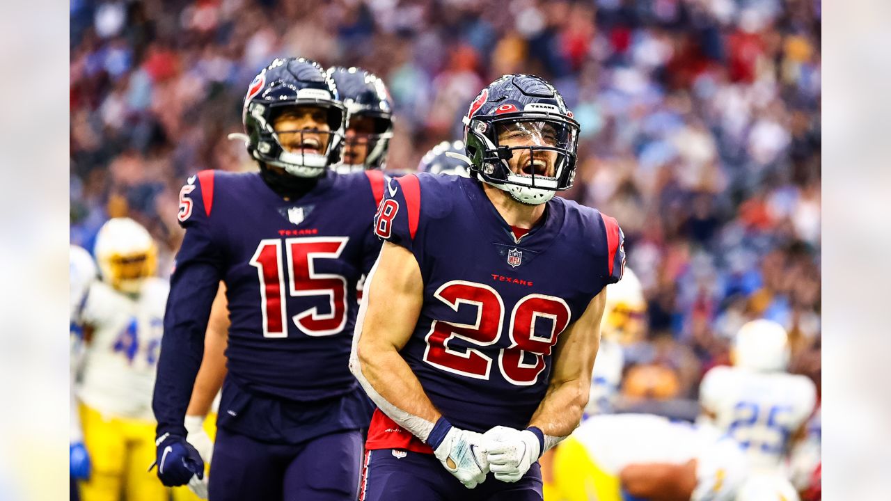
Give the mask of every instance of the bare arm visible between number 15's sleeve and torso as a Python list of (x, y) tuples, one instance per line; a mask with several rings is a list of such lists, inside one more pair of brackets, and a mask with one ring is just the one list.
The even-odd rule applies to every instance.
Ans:
[(217, 297), (210, 307), (210, 319), (208, 320), (208, 332), (204, 337), (204, 357), (201, 358), (201, 366), (198, 376), (195, 378), (195, 387), (192, 389), (192, 398), (189, 407), (185, 411), (186, 419), (190, 416), (204, 416), (210, 412), (210, 406), (214, 398), (223, 386), (225, 379), (225, 347), (228, 341), (229, 308), (225, 299), (225, 283), (220, 283)]

